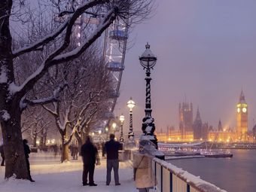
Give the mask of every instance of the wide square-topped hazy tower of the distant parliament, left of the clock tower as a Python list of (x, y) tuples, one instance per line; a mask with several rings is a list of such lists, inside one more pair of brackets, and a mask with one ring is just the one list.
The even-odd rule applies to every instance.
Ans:
[(179, 103), (178, 112), (181, 133), (193, 131), (193, 104), (188, 102)]

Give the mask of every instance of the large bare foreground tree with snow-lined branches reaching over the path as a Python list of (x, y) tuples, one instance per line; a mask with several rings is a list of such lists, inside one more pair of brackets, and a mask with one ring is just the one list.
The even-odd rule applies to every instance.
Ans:
[[(72, 1), (72, 5), (67, 8), (60, 6), (59, 2), (69, 1), (52, 0), (52, 2), (54, 5), (48, 5), (48, 8), (51, 10), (56, 8), (55, 11), (59, 11), (59, 16), (64, 17), (63, 23), (53, 27), (52, 31), (44, 38), (25, 38), (27, 41), (23, 47), (13, 47), (14, 30), (12, 29), (20, 26), (19, 23), (29, 23), (29, 21), (35, 20), (38, 17), (38, 14), (35, 13), (38, 11), (33, 12), (27, 1), (0, 0), (0, 121), (6, 157), (5, 178), (10, 178), (13, 175), (16, 175), (16, 178), (29, 178), (23, 150), (20, 117), (28, 105), (56, 101), (59, 87), (53, 91), (53, 96), (44, 99), (29, 100), (26, 98), (26, 94), (52, 66), (69, 62), (81, 56), (114, 20), (118, 18), (127, 21), (129, 18), (127, 25), (130, 26), (148, 17), (152, 6), (152, 0), (91, 0), (79, 6)], [(45, 1), (46, 3), (47, 1)], [(49, 20), (49, 11), (41, 14), (45, 14), (43, 17), (45, 20)], [(99, 25), (87, 35), (87, 38), (81, 42), (81, 46), (69, 50), (73, 26), (83, 14), (101, 16)], [(24, 25), (23, 31), (25, 31), (24, 35), (29, 34), (30, 26)], [(17, 36), (19, 37), (19, 35)], [(56, 41), (59, 41), (59, 44), (54, 47), (53, 42)], [(24, 81), (17, 82), (19, 78), (14, 73), (14, 62), (17, 58), (24, 54), (44, 50), (47, 46), (53, 47), (54, 51), (47, 53), (40, 66)], [(27, 63), (27, 65), (31, 64)]]

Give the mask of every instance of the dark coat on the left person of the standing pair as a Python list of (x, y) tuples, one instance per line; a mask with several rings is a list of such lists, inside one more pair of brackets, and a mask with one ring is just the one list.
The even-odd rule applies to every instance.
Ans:
[(84, 165), (93, 165), (99, 162), (98, 149), (92, 142), (86, 142), (81, 147), (81, 156), (83, 157)]

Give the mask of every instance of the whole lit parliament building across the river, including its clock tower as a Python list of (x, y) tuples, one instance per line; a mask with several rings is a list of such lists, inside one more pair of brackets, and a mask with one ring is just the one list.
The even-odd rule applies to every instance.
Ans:
[(194, 119), (192, 103), (180, 103), (178, 113), (179, 129), (168, 127), (166, 133), (157, 133), (159, 142), (251, 142), (256, 136), (256, 126), (253, 128), (253, 133), (248, 134), (248, 105), (242, 91), (239, 102), (236, 104), (235, 129), (223, 128), (221, 120), (215, 128), (208, 123), (203, 123), (199, 108)]

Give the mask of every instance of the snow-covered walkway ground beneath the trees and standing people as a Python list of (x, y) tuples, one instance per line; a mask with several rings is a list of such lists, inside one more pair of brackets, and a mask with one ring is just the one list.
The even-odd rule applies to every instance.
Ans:
[(133, 181), (133, 169), (130, 163), (120, 162), (119, 178), (120, 186), (114, 185), (114, 174), (112, 171), (111, 184), (105, 185), (106, 162), (101, 160), (101, 165), (96, 166), (94, 181), (98, 186), (90, 187), (82, 185), (83, 163), (81, 158), (72, 160), (70, 163), (59, 163), (59, 156), (53, 154), (31, 154), (31, 172), (35, 183), (20, 181), (10, 178), (4, 179), (5, 168), (0, 166), (0, 191), (1, 192), (65, 192), (65, 191), (87, 191), (87, 192), (133, 192), (136, 190)]

